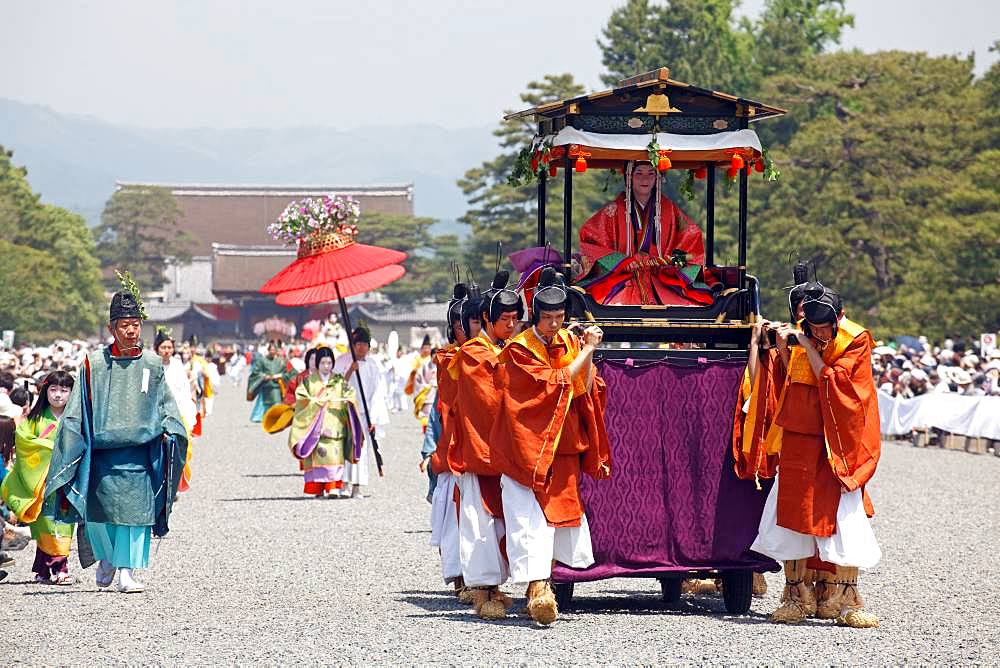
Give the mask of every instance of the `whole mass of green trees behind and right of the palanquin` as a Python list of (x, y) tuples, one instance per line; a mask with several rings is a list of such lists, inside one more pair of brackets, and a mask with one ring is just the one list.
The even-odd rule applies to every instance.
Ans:
[[(829, 53), (853, 25), (844, 0), (766, 0), (754, 19), (738, 19), (738, 4), (626, 0), (598, 45), (607, 85), (667, 66), (675, 79), (789, 109), (754, 126), (783, 173), (750, 188), (749, 269), (762, 280), (765, 311), (783, 316), (782, 287), (802, 258), (815, 260), (819, 278), (877, 333), (1000, 328), (1000, 66), (976, 81), (971, 58)], [(570, 75), (550, 75), (521, 99), (534, 106), (583, 92)], [(530, 122), (502, 124), (500, 155), (460, 181), (471, 255), (484, 268), (497, 239), (534, 244), (534, 189), (505, 181), (533, 133)], [(594, 171), (574, 182), (577, 229), (620, 187), (602, 193)], [(686, 202), (678, 180), (668, 174), (666, 191), (703, 224), (703, 183)], [(561, 228), (553, 185), (550, 232)], [(736, 197), (723, 186), (717, 263), (735, 260), (735, 230)]]

